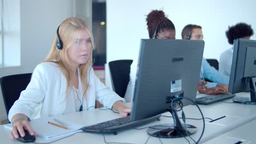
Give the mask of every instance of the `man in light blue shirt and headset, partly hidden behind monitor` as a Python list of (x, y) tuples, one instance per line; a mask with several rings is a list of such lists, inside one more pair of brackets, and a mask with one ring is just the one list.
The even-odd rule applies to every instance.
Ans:
[[(187, 25), (182, 30), (182, 39), (203, 40), (202, 27), (197, 25)], [(213, 82), (205, 82), (203, 78)], [(214, 67), (202, 59), (200, 81), (197, 90), (200, 93), (219, 94), (228, 93), (229, 77), (219, 73)], [(206, 86), (207, 84), (207, 86)]]

